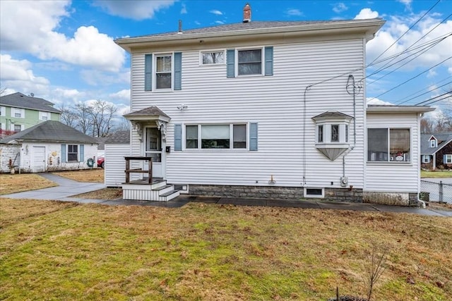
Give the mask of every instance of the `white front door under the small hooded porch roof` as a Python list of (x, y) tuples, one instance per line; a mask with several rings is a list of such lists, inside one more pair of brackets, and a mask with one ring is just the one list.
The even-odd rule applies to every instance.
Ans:
[[(145, 131), (145, 156), (153, 160), (153, 177), (165, 177), (165, 153), (162, 152), (162, 133), (158, 128), (146, 128)], [(148, 164), (143, 166), (148, 168)]]

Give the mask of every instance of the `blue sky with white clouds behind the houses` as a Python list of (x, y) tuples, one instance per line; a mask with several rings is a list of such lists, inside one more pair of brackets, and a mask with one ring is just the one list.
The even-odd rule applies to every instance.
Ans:
[[(130, 98), (129, 54), (114, 39), (175, 31), (178, 20), (185, 30), (239, 23), (244, 4), (246, 1), (1, 0), (0, 87), (5, 90), (3, 95), (34, 93), (58, 107), (101, 99), (125, 113)], [(400, 54), (420, 38), (415, 47), (427, 47), (444, 37), (415, 59), (411, 56), (409, 63), (398, 63), (374, 75), (382, 64), (367, 68), (367, 97), (372, 103), (417, 104), (452, 90), (450, 0), (268, 0), (249, 4), (252, 20), (383, 18), (386, 24), (367, 43), (367, 63), (384, 51), (379, 60)], [(452, 97), (432, 105), (439, 110), (452, 108)]]

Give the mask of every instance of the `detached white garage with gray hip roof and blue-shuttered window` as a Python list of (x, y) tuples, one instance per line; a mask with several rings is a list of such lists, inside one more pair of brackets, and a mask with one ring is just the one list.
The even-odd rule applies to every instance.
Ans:
[(59, 121), (45, 121), (0, 140), (1, 172), (40, 173), (95, 166), (97, 141)]

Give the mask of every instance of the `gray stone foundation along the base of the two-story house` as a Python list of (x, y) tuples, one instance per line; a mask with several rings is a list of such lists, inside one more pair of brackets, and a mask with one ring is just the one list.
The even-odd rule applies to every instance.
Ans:
[[(236, 185), (190, 185), (191, 195), (212, 197), (244, 197), (255, 199), (302, 199), (302, 187), (236, 186)], [(325, 188), (323, 199), (340, 202), (362, 202), (362, 189)]]

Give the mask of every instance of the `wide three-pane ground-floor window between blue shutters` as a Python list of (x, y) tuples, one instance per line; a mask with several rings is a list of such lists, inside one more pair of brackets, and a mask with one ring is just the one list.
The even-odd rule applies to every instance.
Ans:
[(242, 123), (185, 125), (185, 148), (246, 149), (246, 133)]

